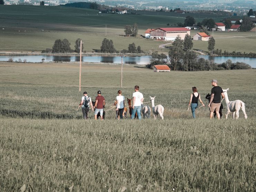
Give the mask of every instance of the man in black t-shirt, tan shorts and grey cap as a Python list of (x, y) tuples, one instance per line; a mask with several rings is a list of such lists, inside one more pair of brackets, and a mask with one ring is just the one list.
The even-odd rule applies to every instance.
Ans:
[(208, 107), (210, 107), (210, 119), (213, 117), (213, 113), (216, 110), (216, 115), (220, 119), (219, 109), (220, 109), (220, 95), (224, 98), (223, 90), (217, 85), (218, 81), (216, 79), (211, 80), (211, 85), (214, 86), (211, 89), (211, 100)]

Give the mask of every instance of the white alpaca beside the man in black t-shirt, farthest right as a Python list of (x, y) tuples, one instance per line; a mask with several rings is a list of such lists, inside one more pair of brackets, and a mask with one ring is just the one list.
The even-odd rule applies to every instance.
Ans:
[(236, 114), (236, 119), (238, 119), (239, 117), (239, 110), (240, 108), (242, 109), (242, 111), (244, 112), (245, 115), (245, 119), (247, 119), (247, 115), (245, 113), (245, 103), (242, 102), (241, 100), (234, 100), (234, 101), (229, 101), (228, 100), (228, 91), (229, 88), (227, 89), (222, 89), (223, 93), (225, 95), (225, 102), (227, 104), (227, 113), (226, 113), (226, 119), (228, 118), (228, 114), (230, 112), (233, 112), (233, 119), (235, 119), (235, 114)]

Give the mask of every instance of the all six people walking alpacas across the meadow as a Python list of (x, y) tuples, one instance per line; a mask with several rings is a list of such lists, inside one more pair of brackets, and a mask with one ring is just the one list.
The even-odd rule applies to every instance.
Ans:
[[(221, 105), (220, 97), (224, 98), (223, 90), (220, 86), (218, 86), (218, 81), (216, 79), (211, 80), (211, 85), (213, 88), (211, 89), (211, 98), (208, 107), (210, 107), (210, 118), (213, 117), (214, 111), (216, 112), (217, 118), (220, 119), (219, 109)], [(132, 95), (132, 114), (131, 118), (134, 119), (135, 114), (137, 113), (138, 119), (141, 119), (141, 103), (143, 102), (143, 94), (139, 92), (139, 86), (136, 85), (134, 87), (134, 93)], [(197, 91), (196, 87), (192, 87), (193, 93), (190, 95), (189, 106), (191, 107), (191, 112), (193, 118), (196, 118), (195, 110), (198, 107), (198, 100), (205, 106), (201, 100), (201, 96)], [(120, 115), (120, 119), (123, 119), (123, 111), (125, 105), (125, 98), (122, 95), (122, 91), (118, 90), (118, 96), (116, 96), (116, 118), (118, 114)], [(99, 113), (101, 119), (103, 120), (103, 107), (105, 105), (105, 98), (101, 95), (101, 91), (98, 90), (97, 97), (95, 98), (95, 104), (93, 105), (91, 97), (87, 95), (87, 92), (84, 92), (84, 96), (81, 99), (79, 104), (82, 107), (83, 117), (84, 119), (88, 118), (89, 107), (91, 106), (92, 111), (94, 111), (94, 118), (97, 120), (97, 114)]]

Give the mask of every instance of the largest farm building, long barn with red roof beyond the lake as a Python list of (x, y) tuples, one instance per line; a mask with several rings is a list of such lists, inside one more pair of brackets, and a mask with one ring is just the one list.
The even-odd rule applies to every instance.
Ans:
[(178, 35), (184, 39), (186, 34), (190, 35), (190, 30), (185, 27), (158, 28), (150, 31), (150, 39), (173, 41)]

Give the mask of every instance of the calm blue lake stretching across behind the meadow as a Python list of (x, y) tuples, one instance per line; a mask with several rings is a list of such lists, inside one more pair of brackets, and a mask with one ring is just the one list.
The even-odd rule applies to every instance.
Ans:
[[(208, 55), (199, 55), (199, 58), (204, 58), (208, 60), (213, 60), (215, 63), (221, 64), (225, 63), (228, 59), (232, 60), (233, 63), (244, 62), (250, 65), (251, 67), (256, 68), (256, 58), (252, 57), (226, 57), (226, 56), (208, 56)], [(27, 60), (27, 62), (40, 63), (42, 59), (45, 59), (45, 62), (74, 62), (79, 61), (80, 56), (54, 56), (54, 55), (21, 55), (21, 56), (0, 56), (0, 61), (8, 61), (9, 58), (13, 58), (13, 61), (18, 61), (21, 59)], [(114, 63), (121, 64), (121, 57), (111, 57), (111, 56), (83, 56), (83, 62), (91, 63)], [(146, 65), (150, 62), (150, 56), (129, 56), (123, 57), (123, 64), (137, 64), (137, 65)]]

